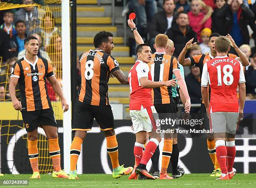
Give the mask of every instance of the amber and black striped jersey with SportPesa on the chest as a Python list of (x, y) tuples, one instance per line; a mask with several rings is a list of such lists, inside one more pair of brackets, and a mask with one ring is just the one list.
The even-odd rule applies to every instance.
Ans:
[(10, 77), (19, 78), (21, 111), (34, 111), (52, 108), (46, 87), (46, 77), (54, 75), (51, 63), (38, 58), (34, 63), (24, 56), (16, 61)]

